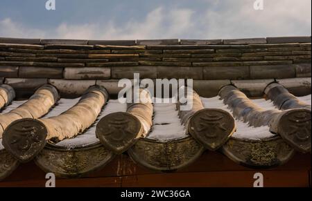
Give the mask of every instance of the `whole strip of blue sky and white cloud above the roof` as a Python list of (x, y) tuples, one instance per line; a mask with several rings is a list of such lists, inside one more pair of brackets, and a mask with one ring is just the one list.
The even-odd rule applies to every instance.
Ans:
[(1, 0), (0, 37), (223, 39), (310, 36), (311, 0)]

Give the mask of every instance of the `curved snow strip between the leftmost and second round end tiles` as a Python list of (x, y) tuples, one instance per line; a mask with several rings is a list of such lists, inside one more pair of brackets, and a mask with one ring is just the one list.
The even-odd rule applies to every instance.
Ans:
[(111, 99), (109, 102), (107, 102), (107, 105), (104, 106), (103, 111), (98, 116), (96, 122), (94, 122), (94, 124), (92, 124), (92, 126), (90, 126), (87, 131), (85, 131), (85, 133), (71, 139), (62, 140), (55, 145), (66, 147), (67, 149), (75, 149), (78, 147), (85, 147), (89, 146), (90, 144), (94, 144), (99, 141), (98, 138), (96, 138), (96, 124), (98, 121), (110, 113), (125, 111), (127, 111), (127, 104), (119, 103), (118, 99)]

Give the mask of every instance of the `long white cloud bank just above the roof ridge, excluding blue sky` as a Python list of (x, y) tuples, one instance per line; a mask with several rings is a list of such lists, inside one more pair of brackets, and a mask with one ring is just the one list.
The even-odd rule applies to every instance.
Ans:
[(254, 1), (207, 1), (205, 12), (160, 6), (142, 19), (125, 19), (123, 26), (112, 20), (83, 24), (63, 22), (49, 30), (41, 30), (7, 18), (0, 19), (0, 35), (64, 39), (220, 39), (311, 35), (310, 0), (264, 0), (262, 11), (253, 9)]

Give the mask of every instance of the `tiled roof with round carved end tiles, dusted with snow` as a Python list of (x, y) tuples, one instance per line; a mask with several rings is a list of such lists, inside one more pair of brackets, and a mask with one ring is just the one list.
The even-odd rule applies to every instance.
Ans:
[[(193, 79), (193, 108), (121, 104), (118, 80), (133, 73)], [(252, 168), (311, 153), (311, 37), (0, 38), (0, 77), (0, 180), (32, 160), (78, 177), (124, 153), (157, 171), (205, 150)]]

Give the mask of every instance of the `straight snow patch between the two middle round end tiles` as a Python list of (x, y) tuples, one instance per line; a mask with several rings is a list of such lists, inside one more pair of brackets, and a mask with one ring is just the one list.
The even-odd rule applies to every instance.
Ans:
[(176, 104), (154, 104), (153, 128), (146, 138), (166, 142), (184, 137), (187, 134), (180, 122)]

